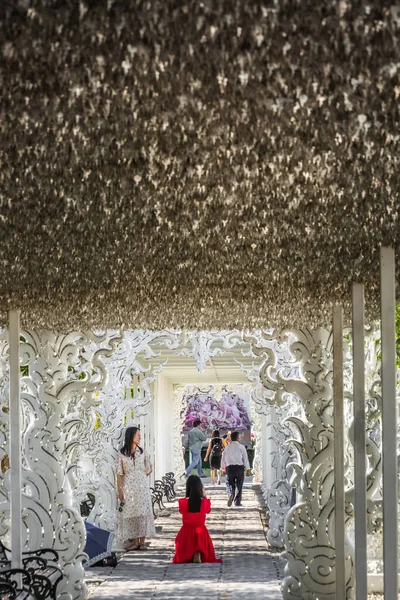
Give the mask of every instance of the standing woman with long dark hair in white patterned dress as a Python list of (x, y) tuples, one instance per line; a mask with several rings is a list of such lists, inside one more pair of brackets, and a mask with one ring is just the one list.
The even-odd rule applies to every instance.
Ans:
[(118, 499), (124, 502), (120, 524), (127, 550), (145, 550), (146, 538), (156, 534), (148, 476), (153, 471), (140, 444), (140, 430), (128, 427), (118, 453)]

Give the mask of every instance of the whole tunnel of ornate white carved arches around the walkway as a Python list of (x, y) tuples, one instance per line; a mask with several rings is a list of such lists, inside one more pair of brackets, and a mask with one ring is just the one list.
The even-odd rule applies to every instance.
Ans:
[[(15, 485), (8, 468), (12, 440), (8, 333), (1, 334), (0, 379), (0, 509), (6, 542), (16, 518), (10, 521), (8, 501)], [(377, 327), (366, 336), (368, 570), (373, 589), (383, 586), (379, 336)], [(347, 398), (343, 414), (349, 431), (345, 493), (351, 498), (353, 361), (348, 333), (342, 342)], [(168, 472), (179, 478), (185, 468), (185, 410), (193, 390), (248, 398), (252, 480), (261, 487), (265, 502), (267, 541), (284, 552), (287, 561), (284, 599), (303, 597), (296, 596), (296, 586), (302, 588), (301, 594), (307, 589), (307, 593), (318, 593), (318, 598), (330, 598), (335, 592), (331, 330), (106, 330), (68, 335), (21, 331), (19, 353), (22, 546), (61, 548), (63, 570), (68, 574), (62, 583), (64, 594), (84, 598), (85, 535), (79, 506), (88, 493), (95, 498), (88, 521), (117, 531), (115, 465), (126, 427), (140, 427), (142, 443), (154, 464), (153, 481)], [(351, 590), (356, 546), (351, 510), (346, 528), (346, 586)], [(299, 532), (307, 538), (306, 550), (299, 544)], [(325, 568), (319, 577), (310, 578), (307, 573), (316, 556)]]

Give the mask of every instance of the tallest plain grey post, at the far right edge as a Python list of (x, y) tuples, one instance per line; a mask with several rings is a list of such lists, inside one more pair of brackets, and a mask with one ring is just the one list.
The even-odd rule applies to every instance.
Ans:
[(381, 248), (383, 574), (385, 600), (397, 600), (396, 293), (393, 248)]

